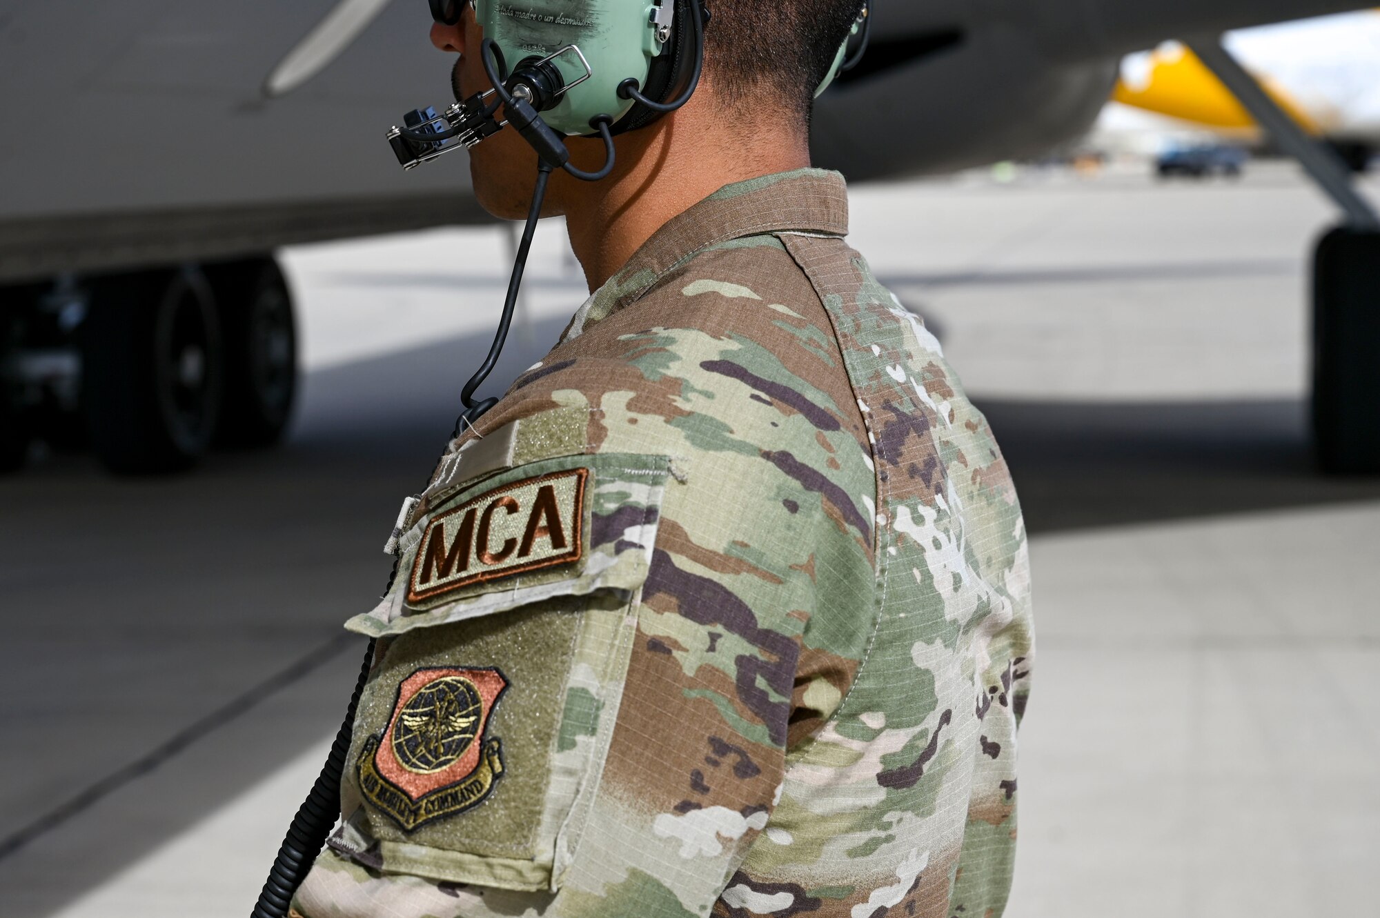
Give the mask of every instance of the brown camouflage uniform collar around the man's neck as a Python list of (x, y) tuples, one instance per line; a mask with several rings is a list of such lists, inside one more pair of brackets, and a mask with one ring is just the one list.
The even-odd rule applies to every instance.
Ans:
[(668, 221), (622, 270), (585, 300), (562, 340), (640, 299), (711, 245), (767, 233), (847, 236), (847, 186), (838, 172), (796, 170), (726, 185)]

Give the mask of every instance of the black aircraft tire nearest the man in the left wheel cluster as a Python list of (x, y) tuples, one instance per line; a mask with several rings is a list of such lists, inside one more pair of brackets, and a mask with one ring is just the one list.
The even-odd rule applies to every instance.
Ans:
[(268, 447), (283, 438), (297, 397), (293, 294), (272, 256), (208, 265), (225, 340), (215, 442)]

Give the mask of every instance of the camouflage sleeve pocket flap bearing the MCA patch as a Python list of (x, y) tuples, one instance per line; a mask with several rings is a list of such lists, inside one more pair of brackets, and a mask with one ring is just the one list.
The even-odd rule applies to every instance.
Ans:
[(477, 481), (399, 540), (393, 584), (345, 627), (371, 637), (558, 595), (632, 593), (647, 578), (671, 459), (564, 456)]

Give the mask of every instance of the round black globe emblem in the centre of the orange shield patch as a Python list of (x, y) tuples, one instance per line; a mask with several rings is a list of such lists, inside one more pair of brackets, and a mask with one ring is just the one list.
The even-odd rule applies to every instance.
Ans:
[(462, 675), (428, 682), (397, 713), (393, 755), (414, 775), (432, 775), (460, 761), (475, 742), (484, 704)]

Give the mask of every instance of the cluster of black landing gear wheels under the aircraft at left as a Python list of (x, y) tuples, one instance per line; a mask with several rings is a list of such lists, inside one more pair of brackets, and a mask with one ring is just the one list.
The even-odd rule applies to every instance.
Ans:
[(272, 256), (0, 288), (0, 471), (32, 441), (116, 473), (282, 440), (297, 391), (293, 298)]

